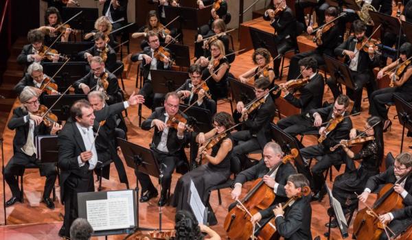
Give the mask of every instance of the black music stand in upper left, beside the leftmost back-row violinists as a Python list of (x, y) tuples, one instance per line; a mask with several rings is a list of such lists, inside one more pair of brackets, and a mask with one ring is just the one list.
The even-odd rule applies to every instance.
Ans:
[(58, 42), (55, 47), (59, 53), (70, 58), (71, 62), (86, 62), (82, 56), (78, 56), (80, 51), (93, 47), (94, 42)]

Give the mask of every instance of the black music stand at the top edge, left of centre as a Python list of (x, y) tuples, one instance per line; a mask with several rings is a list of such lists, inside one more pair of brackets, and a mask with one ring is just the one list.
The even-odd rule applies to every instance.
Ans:
[(197, 9), (165, 5), (164, 10), (166, 22), (168, 23), (175, 19), (176, 16), (180, 16), (179, 19), (168, 25), (168, 27), (197, 30), (199, 26), (205, 25), (209, 22), (211, 7), (212, 6), (210, 5), (209, 7), (203, 9)]

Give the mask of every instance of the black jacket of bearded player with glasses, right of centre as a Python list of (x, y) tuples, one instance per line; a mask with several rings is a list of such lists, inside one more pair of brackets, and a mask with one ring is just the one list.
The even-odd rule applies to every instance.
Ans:
[[(319, 115), (321, 115), (322, 122), (325, 123), (332, 119), (333, 104), (325, 108), (310, 110), (310, 117), (313, 116), (314, 112), (319, 113)], [(347, 116), (347, 112), (345, 112), (344, 116)], [(352, 120), (350, 119), (350, 117), (345, 117), (345, 119), (338, 123), (338, 125), (336, 125), (336, 128), (334, 128), (334, 130), (332, 130), (332, 132), (330, 132), (328, 136), (326, 136), (326, 139), (321, 143), (325, 151), (330, 152), (330, 147), (333, 147), (334, 145), (338, 144), (342, 139), (349, 139), (349, 132), (351, 129)]]

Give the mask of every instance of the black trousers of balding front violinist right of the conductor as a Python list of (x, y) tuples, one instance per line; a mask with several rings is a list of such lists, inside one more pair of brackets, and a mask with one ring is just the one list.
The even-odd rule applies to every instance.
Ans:
[[(155, 155), (155, 159), (157, 160), (157, 163), (159, 163), (159, 167), (161, 167), (161, 164), (163, 167), (163, 178), (161, 180), (161, 187), (162, 187), (162, 192), (167, 193), (167, 191), (170, 189), (170, 182), (172, 181), (172, 174), (174, 171), (174, 168), (176, 167), (176, 163), (179, 160), (178, 156), (172, 155), (172, 154), (166, 154), (166, 153), (161, 153), (161, 152), (156, 152), (153, 151)], [(155, 188), (155, 185), (153, 185), (152, 180), (150, 180), (150, 177), (146, 173), (142, 173), (141, 171), (135, 171), (135, 174), (137, 176), (137, 180), (139, 180), (140, 186), (141, 186), (141, 194), (145, 193), (146, 191), (151, 191), (155, 192), (157, 189)]]

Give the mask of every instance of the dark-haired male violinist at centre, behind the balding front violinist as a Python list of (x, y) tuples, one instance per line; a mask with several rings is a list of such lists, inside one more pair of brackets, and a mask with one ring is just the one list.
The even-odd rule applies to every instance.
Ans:
[[(190, 79), (177, 88), (176, 92), (183, 98), (183, 103), (186, 105), (192, 105), (196, 101), (194, 106), (199, 108), (205, 108), (210, 110), (211, 116), (216, 113), (216, 101), (209, 99), (208, 91), (203, 90), (202, 85), (207, 86), (207, 84), (202, 79), (202, 68), (199, 64), (193, 64), (189, 67), (189, 77)], [(193, 93), (194, 89), (197, 89), (197, 93)], [(210, 96), (210, 95), (209, 95)]]

